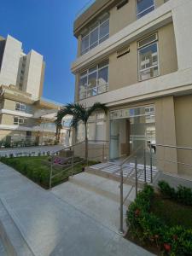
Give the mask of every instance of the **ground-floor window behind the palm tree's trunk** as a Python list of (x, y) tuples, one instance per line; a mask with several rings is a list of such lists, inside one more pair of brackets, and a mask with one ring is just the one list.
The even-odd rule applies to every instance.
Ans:
[[(87, 137), (93, 143), (106, 140), (106, 119), (104, 113), (92, 115), (87, 124)], [(84, 141), (84, 124), (79, 123), (77, 131), (78, 142)]]

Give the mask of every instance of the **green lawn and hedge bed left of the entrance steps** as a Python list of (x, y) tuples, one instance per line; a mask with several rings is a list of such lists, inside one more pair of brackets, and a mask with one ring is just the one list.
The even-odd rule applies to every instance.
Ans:
[[(45, 161), (48, 160), (48, 156), (34, 156), (34, 157), (18, 157), (18, 158), (2, 158), (1, 161), (13, 167), (16, 171), (22, 173), (24, 176), (30, 178), (33, 182), (38, 183), (44, 189), (49, 189), (49, 174), (50, 166), (46, 165)], [(93, 165), (96, 162), (90, 161), (89, 165)], [(73, 167), (73, 174), (82, 172), (83, 164), (79, 163)], [(68, 167), (67, 167), (68, 168)], [(67, 169), (66, 168), (66, 169)], [(53, 175), (61, 172), (57, 168), (53, 168)], [(52, 179), (52, 187), (68, 180), (71, 176), (71, 170), (61, 172)]]

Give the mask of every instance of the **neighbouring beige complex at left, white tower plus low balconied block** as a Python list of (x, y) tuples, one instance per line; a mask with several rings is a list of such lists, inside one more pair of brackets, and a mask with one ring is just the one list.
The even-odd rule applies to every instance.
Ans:
[[(43, 56), (34, 50), (26, 55), (21, 47), (15, 38), (0, 38), (0, 146), (54, 143), (61, 104), (42, 98)], [(61, 143), (67, 131), (61, 130)]]

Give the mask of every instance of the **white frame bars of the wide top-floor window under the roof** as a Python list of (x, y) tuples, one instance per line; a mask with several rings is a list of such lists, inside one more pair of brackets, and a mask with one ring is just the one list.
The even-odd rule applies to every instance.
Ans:
[[(108, 34), (106, 34), (105, 36), (103, 36), (102, 38), (100, 38), (100, 30), (101, 30), (101, 26), (103, 25), (103, 24), (105, 24), (105, 23), (107, 23), (108, 22)], [(81, 46), (80, 46), (80, 55), (84, 55), (85, 53), (87, 53), (88, 51), (90, 51), (90, 49), (94, 49), (97, 45), (99, 45), (99, 44), (102, 44), (102, 42), (104, 42), (105, 40), (107, 40), (108, 38), (109, 38), (109, 16), (108, 16), (108, 18), (106, 19), (106, 20), (97, 20), (96, 21), (96, 23), (97, 23), (97, 26), (95, 26), (94, 28), (91, 28), (91, 26), (89, 27), (89, 32), (87, 32), (84, 36), (82, 36), (82, 38), (81, 38)], [(97, 38), (97, 41), (94, 43), (94, 44), (91, 44), (90, 45), (90, 34), (91, 34), (91, 32), (94, 32), (94, 31), (96, 31), (96, 29), (98, 29), (98, 38)], [(89, 45), (88, 45), (88, 47), (86, 48), (86, 49), (84, 49), (83, 51), (82, 51), (82, 41), (83, 41), (83, 39), (84, 38), (86, 38), (86, 37), (88, 37), (89, 38)], [(103, 40), (103, 38), (106, 38), (105, 40)], [(97, 43), (97, 44), (96, 44)], [(96, 46), (93, 46), (93, 45), (95, 45), (96, 44)], [(92, 46), (92, 47), (91, 47)]]

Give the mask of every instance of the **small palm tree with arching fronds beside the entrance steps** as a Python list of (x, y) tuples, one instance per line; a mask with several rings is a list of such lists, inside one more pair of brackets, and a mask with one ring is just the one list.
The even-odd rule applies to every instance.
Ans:
[(67, 104), (64, 108), (58, 111), (57, 113), (57, 123), (61, 123), (61, 119), (66, 115), (72, 115), (73, 119), (71, 121), (70, 127), (77, 130), (77, 126), (79, 122), (83, 122), (84, 124), (84, 140), (85, 140), (85, 150), (84, 150), (84, 159), (88, 160), (88, 137), (87, 137), (87, 122), (92, 113), (96, 110), (103, 110), (107, 113), (108, 108), (105, 104), (100, 102), (96, 102), (90, 108), (85, 108), (83, 105), (79, 103)]

